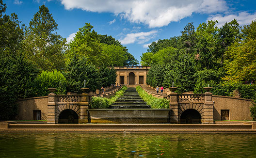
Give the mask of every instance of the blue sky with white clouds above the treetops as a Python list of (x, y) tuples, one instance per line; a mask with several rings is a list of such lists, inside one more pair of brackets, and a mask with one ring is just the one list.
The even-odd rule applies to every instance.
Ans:
[(148, 44), (180, 35), (193, 22), (218, 27), (236, 18), (240, 25), (256, 20), (256, 0), (3, 0), (6, 14), (16, 13), (26, 26), (45, 4), (58, 23), (58, 34), (69, 41), (85, 23), (99, 34), (112, 35), (137, 60)]

